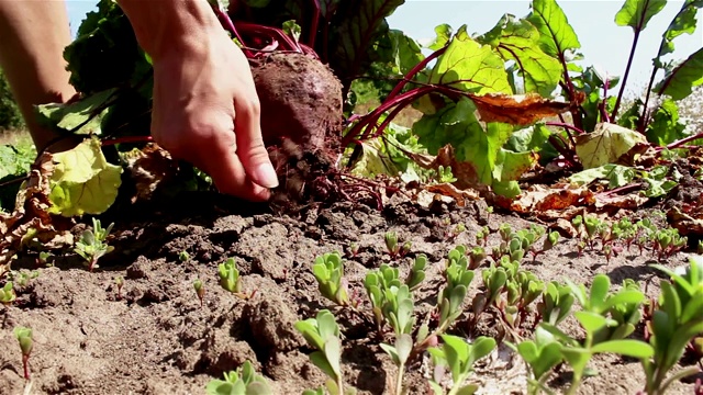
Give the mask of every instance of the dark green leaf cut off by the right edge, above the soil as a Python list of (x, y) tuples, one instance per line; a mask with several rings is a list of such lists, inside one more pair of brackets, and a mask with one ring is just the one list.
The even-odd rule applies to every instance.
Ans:
[(703, 83), (703, 48), (696, 50), (679, 66), (668, 70), (655, 90), (659, 94), (668, 94), (673, 100), (689, 97), (693, 87)]

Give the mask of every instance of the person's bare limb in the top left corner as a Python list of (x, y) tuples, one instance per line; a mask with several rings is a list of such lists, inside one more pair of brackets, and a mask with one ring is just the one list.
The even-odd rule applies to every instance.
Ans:
[(0, 67), (40, 150), (55, 135), (34, 121), (33, 105), (75, 94), (63, 57), (70, 41), (63, 1), (0, 0)]

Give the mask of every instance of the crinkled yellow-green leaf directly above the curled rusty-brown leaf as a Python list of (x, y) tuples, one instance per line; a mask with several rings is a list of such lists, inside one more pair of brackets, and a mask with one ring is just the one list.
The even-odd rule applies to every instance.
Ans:
[(548, 98), (559, 84), (562, 68), (557, 58), (542, 50), (539, 40), (539, 32), (532, 23), (510, 14), (503, 15), (495, 27), (477, 38), (491, 45), (505, 61), (515, 61), (525, 92)]

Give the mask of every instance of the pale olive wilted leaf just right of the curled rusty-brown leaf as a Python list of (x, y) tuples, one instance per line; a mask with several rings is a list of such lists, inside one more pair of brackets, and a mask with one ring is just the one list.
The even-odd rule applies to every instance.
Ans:
[(641, 134), (611, 123), (600, 123), (592, 133), (577, 136), (576, 153), (584, 169), (615, 163), (639, 144), (647, 144)]

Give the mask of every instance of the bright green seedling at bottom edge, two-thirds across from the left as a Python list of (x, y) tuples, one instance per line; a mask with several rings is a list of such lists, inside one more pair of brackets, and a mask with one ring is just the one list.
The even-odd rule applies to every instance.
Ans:
[(465, 395), (473, 394), (476, 384), (464, 385), (464, 382), (473, 372), (473, 363), (490, 354), (495, 349), (495, 339), (480, 336), (473, 343), (454, 335), (442, 335), (443, 345), (427, 349), (436, 365), (447, 366), (451, 373), (453, 386), (448, 393), (439, 384), (435, 376), (429, 380), (429, 386), (435, 395)]

